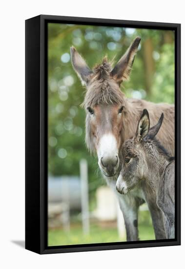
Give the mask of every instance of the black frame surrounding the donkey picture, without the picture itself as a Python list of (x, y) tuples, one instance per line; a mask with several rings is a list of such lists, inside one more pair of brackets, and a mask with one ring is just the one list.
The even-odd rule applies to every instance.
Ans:
[[(175, 32), (175, 239), (47, 246), (47, 23), (166, 29)], [(25, 248), (40, 254), (181, 244), (181, 24), (40, 15), (25, 21)]]

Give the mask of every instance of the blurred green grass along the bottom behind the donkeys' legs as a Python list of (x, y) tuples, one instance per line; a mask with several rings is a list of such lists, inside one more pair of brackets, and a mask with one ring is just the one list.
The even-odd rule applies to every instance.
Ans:
[[(148, 213), (140, 212), (139, 236), (140, 240), (154, 240), (154, 231)], [(142, 220), (142, 217), (144, 220)], [(101, 227), (98, 224), (90, 225), (90, 234), (82, 234), (82, 226), (75, 225), (71, 227), (70, 232), (62, 229), (50, 229), (48, 232), (48, 246), (60, 245), (78, 245), (78, 244), (93, 244), (93, 243), (110, 243), (122, 242), (126, 238), (120, 240), (116, 227)]]

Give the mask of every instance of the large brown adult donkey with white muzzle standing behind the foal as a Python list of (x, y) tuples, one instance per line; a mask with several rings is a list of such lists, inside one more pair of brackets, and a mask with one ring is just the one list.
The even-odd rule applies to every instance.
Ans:
[(127, 241), (138, 239), (138, 209), (145, 201), (151, 213), (156, 239), (164, 239), (164, 215), (156, 204), (152, 189), (144, 195), (142, 188), (134, 188), (127, 195), (116, 191), (121, 170), (121, 146), (135, 134), (143, 109), (150, 113), (154, 125), (164, 112), (164, 124), (157, 137), (174, 156), (174, 106), (154, 104), (144, 100), (127, 99), (120, 89), (129, 78), (140, 38), (137, 37), (114, 68), (103, 58), (102, 64), (91, 70), (75, 47), (71, 47), (71, 60), (75, 71), (86, 86), (83, 107), (86, 111), (86, 145), (97, 153), (98, 164), (107, 184), (118, 196), (126, 227)]

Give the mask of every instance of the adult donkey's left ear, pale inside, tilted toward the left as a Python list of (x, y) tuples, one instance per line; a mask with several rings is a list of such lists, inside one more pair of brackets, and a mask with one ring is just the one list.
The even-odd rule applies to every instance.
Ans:
[(87, 66), (82, 56), (78, 53), (74, 46), (70, 48), (70, 51), (73, 68), (81, 79), (82, 85), (87, 85), (90, 81), (93, 71)]

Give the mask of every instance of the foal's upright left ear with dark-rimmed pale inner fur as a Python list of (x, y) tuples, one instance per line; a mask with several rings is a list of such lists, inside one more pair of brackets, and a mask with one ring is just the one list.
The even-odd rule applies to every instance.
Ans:
[(150, 128), (150, 119), (149, 119), (149, 114), (146, 109), (144, 109), (141, 118), (138, 123), (138, 128), (136, 131), (136, 138), (141, 141), (146, 134), (148, 134)]

